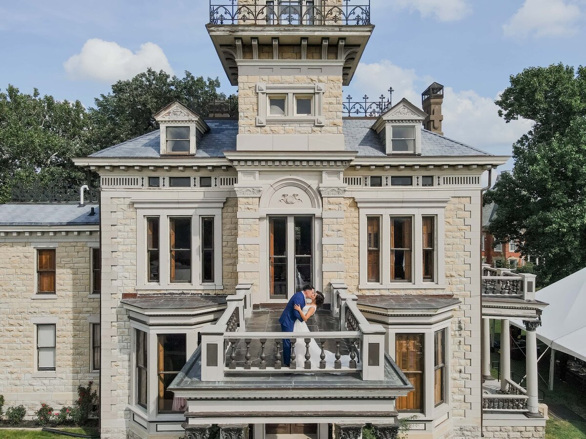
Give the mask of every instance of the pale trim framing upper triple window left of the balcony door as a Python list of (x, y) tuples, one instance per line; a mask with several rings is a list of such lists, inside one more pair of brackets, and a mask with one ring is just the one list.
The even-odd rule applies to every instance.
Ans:
[[(159, 217), (159, 282), (148, 282), (147, 217)], [(191, 282), (171, 283), (169, 267), (169, 218), (191, 217)], [(202, 283), (201, 217), (214, 217), (214, 282)], [(222, 290), (222, 208), (141, 208), (137, 207), (137, 290)]]

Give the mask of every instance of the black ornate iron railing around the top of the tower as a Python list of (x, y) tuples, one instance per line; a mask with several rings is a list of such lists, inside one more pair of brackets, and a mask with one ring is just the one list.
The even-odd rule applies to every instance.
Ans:
[(370, 25), (370, 0), (210, 0), (210, 25)]

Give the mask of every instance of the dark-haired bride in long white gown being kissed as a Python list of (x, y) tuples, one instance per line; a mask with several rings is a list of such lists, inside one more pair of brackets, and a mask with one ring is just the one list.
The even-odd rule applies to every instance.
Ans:
[[(309, 300), (309, 299), (307, 299)], [(303, 321), (295, 320), (295, 324), (293, 326), (293, 332), (311, 332), (307, 326), (307, 321), (309, 317), (314, 315), (315, 311), (317, 310), (318, 306), (323, 304), (323, 294), (319, 291), (316, 291), (314, 299), (311, 299), (311, 303), (306, 304), (303, 308), (299, 305), (295, 305), (295, 310), (299, 311), (301, 318)], [(325, 354), (325, 362), (327, 368), (333, 368), (334, 362), (336, 361), (336, 354), (331, 351), (323, 350)], [(304, 369), (305, 368), (305, 354), (306, 354), (306, 346), (305, 346), (305, 338), (298, 338), (295, 340), (295, 363), (297, 364), (297, 368)], [(315, 339), (311, 338), (309, 342), (309, 355), (311, 355), (311, 368), (312, 369), (319, 369), (319, 362), (321, 361), (321, 354), (322, 349), (319, 347), (318, 343)], [(348, 368), (350, 366), (350, 355), (342, 355), (340, 356), (340, 362), (342, 362), (342, 367)]]

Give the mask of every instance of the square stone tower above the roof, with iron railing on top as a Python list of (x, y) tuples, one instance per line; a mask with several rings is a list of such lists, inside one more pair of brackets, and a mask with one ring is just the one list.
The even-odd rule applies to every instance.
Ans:
[(238, 85), (237, 150), (343, 151), (342, 85), (374, 29), (370, 5), (223, 1), (210, 5), (207, 30)]

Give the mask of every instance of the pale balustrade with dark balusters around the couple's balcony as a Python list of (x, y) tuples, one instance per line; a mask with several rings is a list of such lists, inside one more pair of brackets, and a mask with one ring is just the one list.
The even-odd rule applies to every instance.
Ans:
[[(345, 285), (333, 288), (337, 306), (332, 313), (339, 320), (340, 330), (288, 333), (292, 343), (288, 366), (281, 354), (283, 332), (246, 330), (244, 317), (250, 315), (250, 288), (241, 286), (236, 295), (229, 297), (217, 323), (200, 331), (203, 381), (221, 381), (231, 373), (316, 372), (356, 372), (363, 380), (384, 379), (384, 329), (367, 322), (356, 306), (357, 297), (347, 294)], [(312, 338), (320, 349), (318, 358), (312, 357), (309, 349)], [(295, 355), (295, 345), (299, 343), (304, 352), (301, 362)]]

